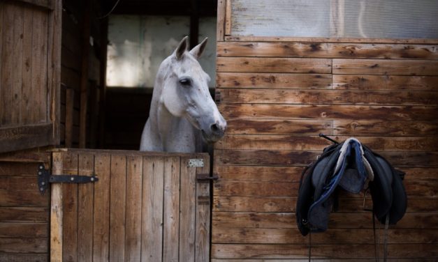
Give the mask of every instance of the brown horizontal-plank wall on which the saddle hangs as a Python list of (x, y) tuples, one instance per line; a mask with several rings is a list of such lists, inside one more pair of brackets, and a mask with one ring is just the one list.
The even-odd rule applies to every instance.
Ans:
[[(307, 259), (295, 203), (302, 169), (330, 144), (321, 132), (356, 137), (406, 172), (408, 209), (390, 226), (390, 261), (436, 261), (438, 43), (228, 36), (226, 3), (217, 90), (228, 129), (214, 151), (212, 261)], [(362, 195), (341, 194), (328, 231), (312, 234), (312, 258), (374, 261)]]

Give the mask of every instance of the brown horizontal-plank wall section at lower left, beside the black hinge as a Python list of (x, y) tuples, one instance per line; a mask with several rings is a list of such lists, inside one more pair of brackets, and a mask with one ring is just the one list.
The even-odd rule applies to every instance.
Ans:
[(38, 192), (38, 164), (50, 154), (0, 154), (0, 261), (48, 261), (50, 194)]

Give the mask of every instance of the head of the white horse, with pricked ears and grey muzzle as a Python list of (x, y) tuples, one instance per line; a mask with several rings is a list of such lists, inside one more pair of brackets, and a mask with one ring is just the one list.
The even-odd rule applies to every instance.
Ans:
[(189, 51), (187, 36), (183, 38), (161, 63), (156, 81), (163, 87), (159, 102), (173, 116), (186, 118), (207, 143), (212, 143), (224, 136), (226, 121), (208, 90), (210, 77), (198, 62), (206, 43), (207, 38)]

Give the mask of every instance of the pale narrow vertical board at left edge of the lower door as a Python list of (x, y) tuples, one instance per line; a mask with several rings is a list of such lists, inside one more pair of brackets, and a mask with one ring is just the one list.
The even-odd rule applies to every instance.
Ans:
[[(63, 169), (62, 152), (52, 153), (52, 174), (60, 175)], [(52, 184), (50, 206), (50, 261), (62, 261), (62, 185)]]

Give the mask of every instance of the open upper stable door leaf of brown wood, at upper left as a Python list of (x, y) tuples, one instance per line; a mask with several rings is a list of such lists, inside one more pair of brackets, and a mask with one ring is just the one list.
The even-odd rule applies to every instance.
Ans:
[(59, 140), (60, 13), (61, 1), (0, 2), (0, 153)]

